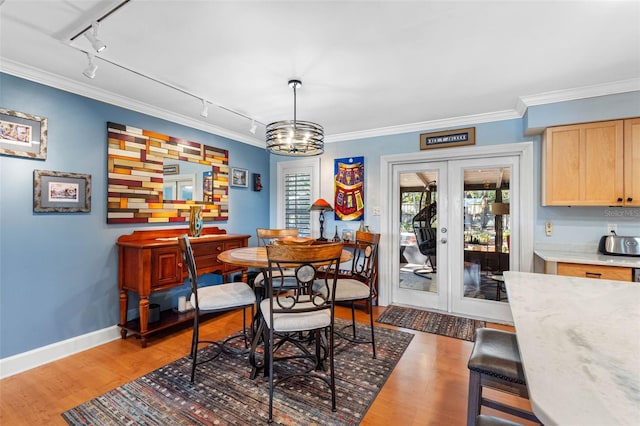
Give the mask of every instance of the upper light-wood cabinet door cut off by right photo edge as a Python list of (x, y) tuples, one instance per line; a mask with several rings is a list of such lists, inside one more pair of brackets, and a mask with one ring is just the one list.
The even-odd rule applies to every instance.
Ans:
[(624, 205), (640, 206), (640, 118), (624, 121)]

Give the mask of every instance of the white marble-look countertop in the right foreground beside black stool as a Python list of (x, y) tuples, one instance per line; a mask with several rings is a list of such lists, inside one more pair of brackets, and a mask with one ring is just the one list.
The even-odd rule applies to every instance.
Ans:
[(504, 277), (540, 421), (638, 425), (640, 284), (515, 271)]

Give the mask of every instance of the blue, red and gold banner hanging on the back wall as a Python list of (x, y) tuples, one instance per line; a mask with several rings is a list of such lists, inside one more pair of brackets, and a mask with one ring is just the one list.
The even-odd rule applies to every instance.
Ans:
[(364, 220), (364, 157), (338, 158), (334, 168), (336, 220)]

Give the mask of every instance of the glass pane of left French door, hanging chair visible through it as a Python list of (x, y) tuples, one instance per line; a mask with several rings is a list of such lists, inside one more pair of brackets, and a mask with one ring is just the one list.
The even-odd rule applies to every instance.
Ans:
[(437, 171), (400, 175), (400, 288), (438, 292)]

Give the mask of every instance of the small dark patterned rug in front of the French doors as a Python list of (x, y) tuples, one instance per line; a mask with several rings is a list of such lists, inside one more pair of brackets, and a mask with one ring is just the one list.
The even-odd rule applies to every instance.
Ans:
[(376, 321), (470, 342), (475, 340), (475, 329), (486, 326), (484, 321), (395, 305), (385, 309)]

